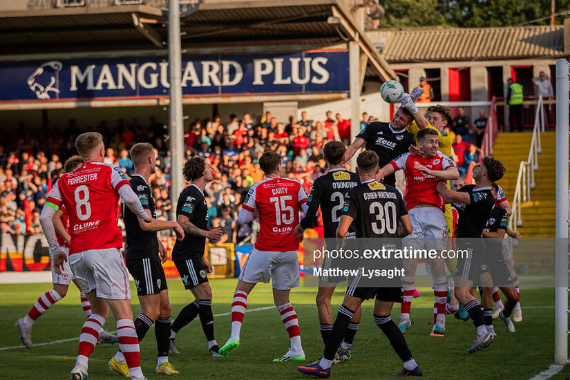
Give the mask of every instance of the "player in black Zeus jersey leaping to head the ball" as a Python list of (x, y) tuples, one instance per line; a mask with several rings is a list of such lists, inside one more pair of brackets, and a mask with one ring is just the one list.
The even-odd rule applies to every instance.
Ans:
[[(354, 142), (346, 149), (343, 163), (350, 160), (362, 146), (365, 146), (366, 150), (374, 151), (378, 155), (379, 167), (384, 167), (399, 155), (408, 152), (410, 146), (415, 144), (414, 136), (406, 131), (406, 126), (412, 120), (410, 111), (400, 107), (392, 117), (392, 121), (366, 124)], [(384, 178), (383, 182), (395, 186), (396, 176), (392, 173)]]

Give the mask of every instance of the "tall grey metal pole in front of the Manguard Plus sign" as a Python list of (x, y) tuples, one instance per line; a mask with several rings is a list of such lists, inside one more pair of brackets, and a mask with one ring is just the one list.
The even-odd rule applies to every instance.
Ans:
[[(184, 162), (184, 125), (182, 124), (182, 51), (180, 47), (180, 5), (178, 0), (169, 0), (169, 143), (170, 143), (170, 199), (172, 211), (178, 204), (182, 191), (182, 164)], [(175, 218), (175, 215), (173, 215)]]

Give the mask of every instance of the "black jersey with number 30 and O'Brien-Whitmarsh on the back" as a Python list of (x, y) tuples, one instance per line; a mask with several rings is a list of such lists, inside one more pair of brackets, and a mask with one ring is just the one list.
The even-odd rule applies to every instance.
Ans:
[(398, 220), (408, 215), (400, 192), (377, 180), (350, 189), (344, 201), (343, 215), (354, 219), (357, 238), (397, 238)]

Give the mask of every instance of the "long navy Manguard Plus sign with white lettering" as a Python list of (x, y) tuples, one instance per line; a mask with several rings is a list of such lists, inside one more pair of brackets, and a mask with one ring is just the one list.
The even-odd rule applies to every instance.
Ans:
[[(165, 57), (62, 59), (0, 64), (0, 101), (168, 95)], [(182, 95), (349, 91), (348, 52), (182, 56)]]

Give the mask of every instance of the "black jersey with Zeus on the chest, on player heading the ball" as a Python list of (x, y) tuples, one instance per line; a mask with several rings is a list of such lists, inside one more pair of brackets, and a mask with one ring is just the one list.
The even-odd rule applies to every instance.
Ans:
[[(390, 123), (372, 122), (366, 124), (357, 135), (364, 139), (366, 150), (374, 151), (380, 158), (378, 167), (382, 169), (390, 161), (403, 153), (408, 153), (410, 145), (415, 145), (414, 135), (402, 129), (394, 131)], [(395, 186), (396, 175), (390, 174), (383, 180), (384, 184)]]

